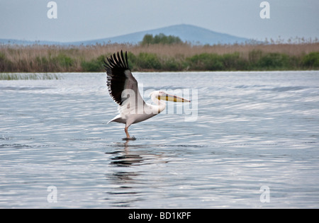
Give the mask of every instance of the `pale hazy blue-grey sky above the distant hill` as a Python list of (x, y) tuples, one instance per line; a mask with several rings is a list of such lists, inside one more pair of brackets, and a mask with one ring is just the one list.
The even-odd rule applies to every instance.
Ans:
[(245, 38), (319, 38), (318, 0), (0, 0), (0, 38), (78, 41), (191, 24)]

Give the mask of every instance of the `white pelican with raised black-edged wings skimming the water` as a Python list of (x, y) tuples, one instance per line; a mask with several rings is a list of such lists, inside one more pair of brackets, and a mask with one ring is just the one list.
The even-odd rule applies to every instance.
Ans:
[[(110, 93), (113, 101), (118, 103), (118, 112), (109, 122), (120, 122), (125, 124), (125, 140), (135, 140), (135, 137), (130, 137), (128, 127), (130, 125), (142, 122), (153, 116), (161, 113), (165, 107), (165, 101), (174, 102), (190, 102), (184, 98), (174, 96), (164, 91), (153, 91), (150, 93), (150, 98), (154, 105), (145, 103), (138, 91), (138, 81), (134, 78), (128, 67), (128, 53), (121, 50), (121, 55), (118, 52), (117, 57), (114, 53), (113, 57), (104, 60), (104, 68), (106, 69), (108, 93)], [(109, 123), (108, 122), (108, 123)]]

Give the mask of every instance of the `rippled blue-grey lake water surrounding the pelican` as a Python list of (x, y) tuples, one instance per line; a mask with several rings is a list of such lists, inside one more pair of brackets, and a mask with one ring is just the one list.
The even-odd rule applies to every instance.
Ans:
[(130, 142), (105, 74), (58, 76), (0, 81), (0, 207), (319, 207), (319, 72), (137, 73), (198, 110)]

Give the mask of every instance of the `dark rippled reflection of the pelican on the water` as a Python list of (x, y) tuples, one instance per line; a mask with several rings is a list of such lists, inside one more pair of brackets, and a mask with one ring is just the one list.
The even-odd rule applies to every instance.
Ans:
[(106, 152), (113, 154), (110, 164), (114, 171), (106, 176), (108, 181), (111, 180), (106, 200), (110, 200), (113, 207), (133, 207), (135, 202), (145, 197), (147, 182), (143, 180), (144, 171), (139, 166), (167, 162), (161, 161), (162, 154), (145, 151), (146, 145), (129, 144), (130, 142), (132, 141), (126, 140), (125, 143), (118, 143), (116, 151)]

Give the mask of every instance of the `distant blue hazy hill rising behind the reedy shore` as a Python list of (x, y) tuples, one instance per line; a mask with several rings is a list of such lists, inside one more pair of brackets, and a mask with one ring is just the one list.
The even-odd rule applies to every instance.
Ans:
[(240, 38), (234, 35), (228, 35), (225, 33), (216, 33), (206, 28), (201, 28), (195, 25), (171, 25), (164, 28), (157, 28), (155, 30), (146, 30), (137, 33), (130, 33), (127, 35), (119, 35), (111, 38), (103, 38), (99, 40), (86, 40), (80, 42), (48, 42), (48, 41), (24, 41), (24, 40), (1, 40), (0, 43), (8, 43), (9, 41), (13, 44), (40, 44), (40, 45), (95, 45), (96, 43), (130, 43), (138, 44), (142, 41), (142, 38), (146, 34), (158, 35), (163, 33), (164, 35), (174, 35), (183, 42), (189, 42), (193, 45), (216, 45), (216, 44), (234, 44), (234, 43), (245, 43), (250, 42), (247, 38)]

